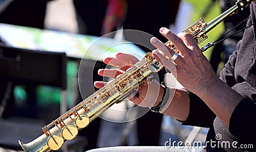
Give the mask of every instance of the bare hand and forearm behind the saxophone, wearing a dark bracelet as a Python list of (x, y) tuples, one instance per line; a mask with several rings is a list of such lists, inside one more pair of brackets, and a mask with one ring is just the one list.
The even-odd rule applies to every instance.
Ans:
[[(112, 77), (115, 78), (117, 75), (122, 74), (125, 70), (127, 70), (129, 67), (134, 65), (134, 63), (138, 62), (138, 59), (136, 57), (129, 55), (129, 54), (123, 54), (118, 53), (115, 57), (107, 57), (104, 59), (104, 63), (106, 65), (116, 66), (118, 69), (100, 69), (99, 75), (102, 75), (104, 77)], [(107, 82), (95, 82), (94, 86), (101, 88), (105, 86)], [(134, 102), (136, 105), (140, 105), (141, 107), (154, 107), (159, 102), (161, 102), (163, 98), (163, 87), (160, 87), (159, 82), (154, 80), (151, 84), (148, 84), (145, 82), (141, 86), (140, 89), (138, 89), (138, 94), (140, 95), (139, 98), (136, 96), (133, 96), (132, 98), (129, 98), (132, 102)], [(159, 89), (157, 91), (150, 91), (148, 93), (148, 89)], [(172, 98), (173, 93), (175, 92), (175, 96), (173, 97), (173, 100), (170, 100), (171, 104), (167, 104), (169, 106), (164, 107), (164, 114), (168, 116), (172, 116), (173, 118), (177, 118), (181, 121), (186, 120), (188, 116), (189, 111), (189, 96), (188, 91), (185, 89), (175, 89), (173, 87), (169, 87), (170, 89), (170, 98)], [(146, 96), (147, 95), (147, 96)], [(157, 96), (155, 98), (152, 98), (152, 96)]]

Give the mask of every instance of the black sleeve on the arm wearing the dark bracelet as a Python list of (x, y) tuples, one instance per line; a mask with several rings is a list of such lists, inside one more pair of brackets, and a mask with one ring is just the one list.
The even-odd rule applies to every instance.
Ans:
[(201, 98), (189, 92), (189, 115), (186, 121), (180, 121), (182, 125), (193, 125), (201, 127), (211, 127), (216, 115), (204, 103)]

